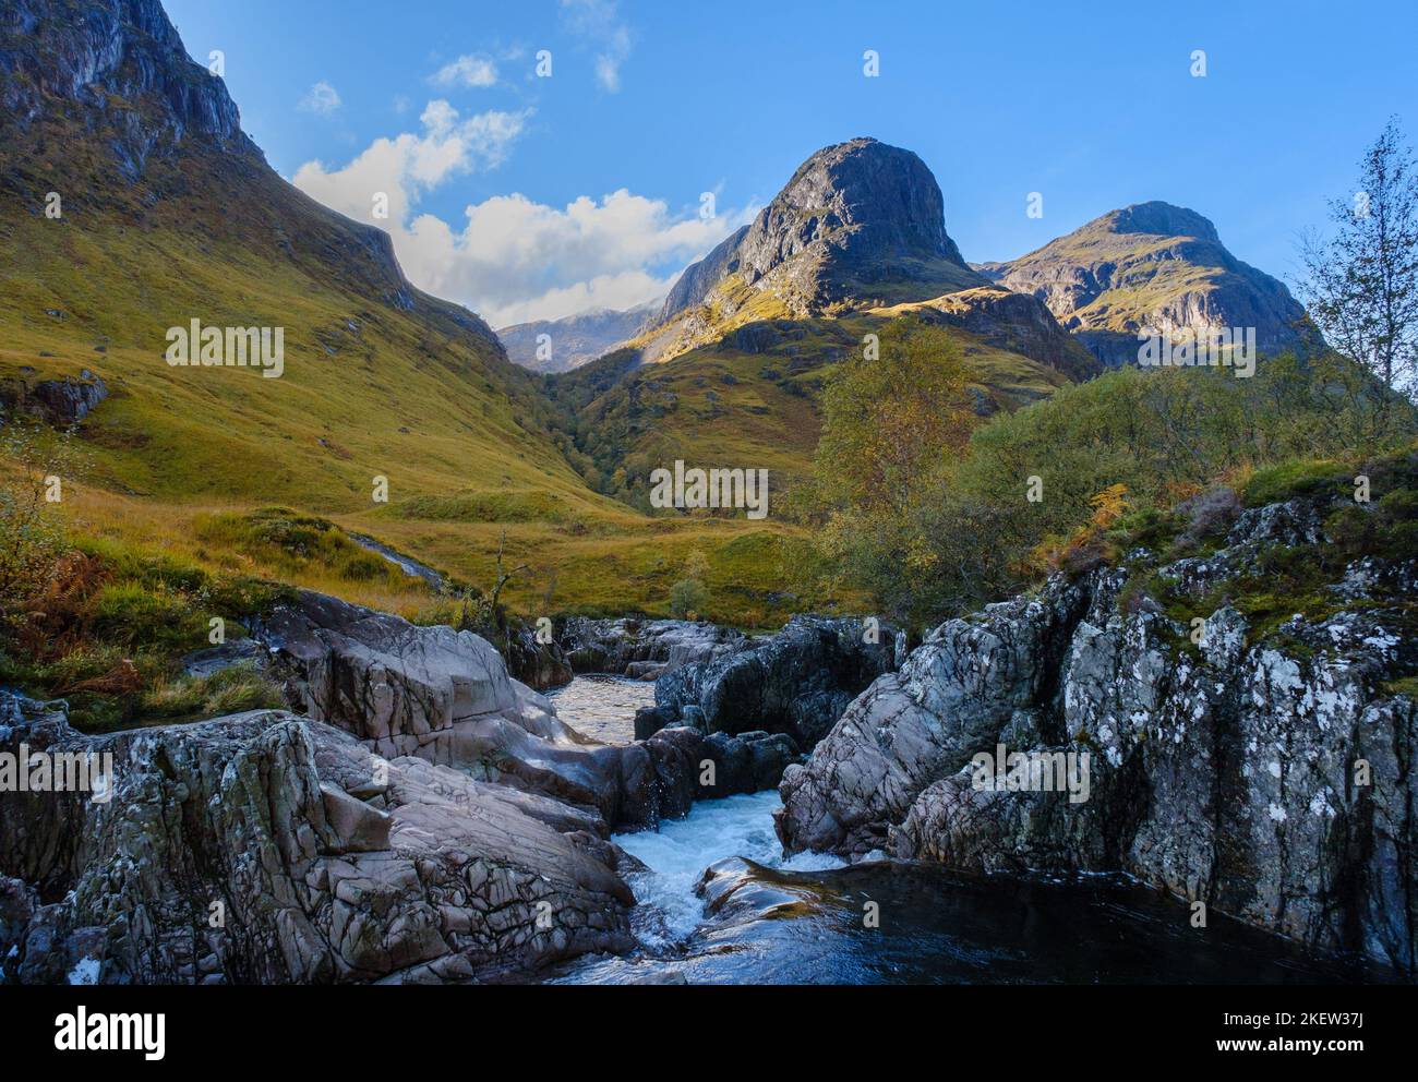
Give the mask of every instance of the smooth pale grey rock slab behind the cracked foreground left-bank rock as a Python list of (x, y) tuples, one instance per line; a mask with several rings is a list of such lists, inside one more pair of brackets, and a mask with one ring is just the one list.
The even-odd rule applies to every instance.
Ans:
[[(288, 705), (359, 737), (486, 783), (593, 810), (615, 830), (682, 815), (699, 762), (659, 743), (600, 744), (508, 675), (471, 631), (420, 627), (389, 613), (301, 593), (255, 628)], [(776, 784), (776, 779), (769, 783)]]

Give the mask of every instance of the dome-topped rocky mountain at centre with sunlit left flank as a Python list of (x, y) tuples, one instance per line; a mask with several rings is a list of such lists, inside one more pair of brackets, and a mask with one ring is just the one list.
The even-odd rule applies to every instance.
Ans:
[(786, 481), (808, 472), (834, 366), (906, 318), (959, 340), (981, 414), (1102, 369), (1041, 301), (964, 264), (916, 155), (852, 139), (811, 155), (753, 223), (685, 269), (652, 325), (549, 393), (603, 491), (632, 496), (675, 458)]

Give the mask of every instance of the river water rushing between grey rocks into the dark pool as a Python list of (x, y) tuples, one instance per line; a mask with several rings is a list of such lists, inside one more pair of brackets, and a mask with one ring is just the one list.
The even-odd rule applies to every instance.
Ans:
[[(627, 733), (649, 685), (579, 676), (554, 696), (574, 727)], [(617, 708), (614, 703), (620, 702)], [(618, 722), (607, 715), (627, 713)], [(604, 736), (600, 739), (605, 739)], [(630, 739), (625, 736), (625, 739)], [(936, 865), (784, 858), (776, 790), (695, 804), (657, 831), (613, 840), (645, 865), (630, 957), (588, 957), (557, 983), (927, 984), (1388, 981), (1371, 963), (1322, 959), (1123, 876), (971, 876)], [(744, 858), (726, 861), (726, 858)], [(705, 869), (733, 889), (696, 892)]]

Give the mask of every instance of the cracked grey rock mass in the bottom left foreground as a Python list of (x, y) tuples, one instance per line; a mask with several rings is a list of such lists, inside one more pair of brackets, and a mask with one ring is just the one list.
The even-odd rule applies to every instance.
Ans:
[(467, 981), (632, 943), (604, 821), (546, 797), (282, 710), (89, 737), (0, 709), (0, 752), (113, 764), (106, 798), (0, 794), (10, 980)]

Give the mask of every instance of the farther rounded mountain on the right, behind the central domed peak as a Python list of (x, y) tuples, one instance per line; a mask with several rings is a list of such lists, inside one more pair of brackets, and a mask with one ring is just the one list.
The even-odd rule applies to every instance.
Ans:
[(1201, 214), (1170, 203), (1109, 211), (1028, 255), (976, 269), (1044, 301), (1109, 366), (1136, 359), (1144, 328), (1255, 328), (1262, 353), (1302, 347), (1309, 335), (1283, 284), (1236, 260)]

